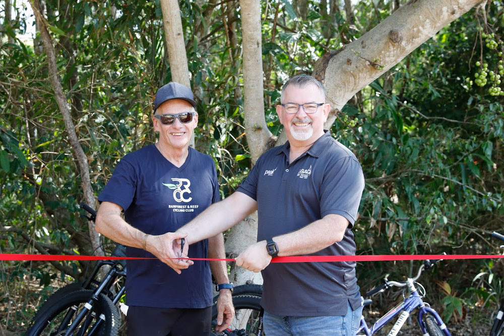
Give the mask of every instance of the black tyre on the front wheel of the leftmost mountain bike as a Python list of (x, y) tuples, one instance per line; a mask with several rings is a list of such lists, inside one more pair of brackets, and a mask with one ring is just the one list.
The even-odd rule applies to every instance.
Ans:
[[(39, 336), (39, 335), (60, 335), (65, 334), (66, 326), (62, 326), (63, 323), (60, 319), (63, 318), (69, 310), (81, 311), (84, 304), (86, 304), (91, 296), (93, 295), (92, 290), (80, 290), (72, 293), (68, 293), (65, 297), (61, 298), (54, 306), (42, 312), (36, 320), (34, 320), (31, 327), (26, 332), (26, 336)], [(100, 336), (116, 336), (119, 328), (119, 313), (115, 305), (110, 301), (108, 297), (103, 294), (99, 295), (98, 301), (93, 305), (91, 309), (91, 314), (93, 316), (93, 322), (90, 328), (98, 321), (101, 315), (104, 316), (105, 320), (102, 322), (98, 329), (98, 335)], [(75, 315), (75, 314), (74, 314)], [(73, 318), (74, 316), (72, 316)], [(81, 323), (88, 320), (86, 317), (83, 318)], [(71, 320), (72, 321), (72, 320)], [(67, 326), (70, 323), (67, 324)], [(54, 332), (62, 326), (62, 331)], [(84, 333), (89, 334), (87, 329)]]

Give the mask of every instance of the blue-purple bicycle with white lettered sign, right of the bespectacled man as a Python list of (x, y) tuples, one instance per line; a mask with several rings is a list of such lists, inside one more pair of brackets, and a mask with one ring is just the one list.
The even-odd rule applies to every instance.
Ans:
[[(430, 270), (430, 268), (440, 260), (442, 259), (425, 260), (418, 269), (416, 277), (413, 279), (408, 278), (404, 282), (396, 282), (388, 281), (387, 278), (385, 278), (383, 285), (367, 292), (365, 294), (366, 297), (371, 297), (376, 293), (383, 292), (394, 286), (406, 287), (409, 295), (406, 297), (403, 293), (403, 301), (377, 320), (370, 328), (367, 326), (364, 316), (362, 316), (357, 334), (372, 335), (390, 322), (394, 317), (399, 315), (396, 323), (388, 333), (388, 336), (396, 336), (411, 312), (418, 308), (418, 324), (420, 325), (423, 335), (451, 336), (450, 331), (448, 331), (446, 324), (443, 322), (439, 314), (434, 309), (430, 308), (428, 303), (423, 302), (422, 298), (425, 296), (425, 288), (416, 282), (424, 270)], [(370, 299), (364, 300), (364, 306), (370, 305), (371, 302), (372, 300)]]

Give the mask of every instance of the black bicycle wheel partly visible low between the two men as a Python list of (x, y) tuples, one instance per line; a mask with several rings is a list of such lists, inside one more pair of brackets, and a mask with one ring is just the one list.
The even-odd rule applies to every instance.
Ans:
[[(217, 307), (212, 306), (212, 335), (255, 336), (258, 334), (261, 297), (255, 295), (233, 296), (234, 318), (224, 331), (214, 330), (217, 324)], [(263, 333), (264, 334), (264, 333)]]

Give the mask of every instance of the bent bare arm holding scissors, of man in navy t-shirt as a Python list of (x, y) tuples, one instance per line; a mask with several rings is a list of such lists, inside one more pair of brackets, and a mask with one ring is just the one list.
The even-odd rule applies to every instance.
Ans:
[[(119, 244), (151, 252), (178, 274), (181, 273), (180, 270), (194, 263), (191, 260), (173, 259), (181, 256), (178, 255), (180, 238), (184, 238), (185, 234), (172, 232), (159, 236), (146, 234), (125, 222), (121, 212), (122, 208), (117, 204), (103, 202), (96, 216), (96, 231)], [(184, 248), (183, 256), (187, 256), (187, 247)]]

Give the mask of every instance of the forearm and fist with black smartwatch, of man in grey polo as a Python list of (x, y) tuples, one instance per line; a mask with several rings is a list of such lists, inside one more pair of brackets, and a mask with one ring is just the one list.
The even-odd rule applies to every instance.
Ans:
[[(299, 230), (272, 238), (278, 245), (278, 256), (309, 254), (341, 241), (348, 224), (345, 217), (331, 214)], [(236, 258), (236, 265), (256, 273), (270, 262), (266, 240), (248, 246)]]

